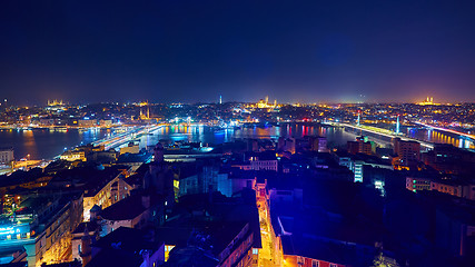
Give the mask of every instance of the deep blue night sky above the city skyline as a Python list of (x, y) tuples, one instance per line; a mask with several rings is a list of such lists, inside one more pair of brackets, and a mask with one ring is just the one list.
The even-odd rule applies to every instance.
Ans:
[(475, 101), (475, 1), (2, 0), (0, 93)]

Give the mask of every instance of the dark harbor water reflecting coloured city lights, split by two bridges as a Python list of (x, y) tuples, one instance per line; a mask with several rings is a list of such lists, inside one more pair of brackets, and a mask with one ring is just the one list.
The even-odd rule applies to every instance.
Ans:
[[(471, 139), (456, 137), (453, 134), (445, 134), (422, 128), (407, 128), (407, 136), (429, 142), (452, 144), (461, 148), (474, 148)], [(0, 147), (13, 147), (14, 158), (21, 159), (52, 159), (62, 154), (66, 149), (86, 145), (109, 135), (116, 134), (111, 129), (31, 129), (31, 130), (0, 130)], [(343, 128), (335, 128), (319, 125), (284, 123), (280, 126), (251, 126), (235, 129), (220, 129), (207, 126), (167, 126), (158, 130), (144, 135), (136, 140), (140, 147), (154, 146), (161, 139), (171, 141), (201, 142), (204, 146), (219, 145), (241, 138), (267, 138), (277, 139), (279, 137), (293, 136), (325, 136), (328, 147), (344, 147), (348, 140), (355, 140), (358, 132), (345, 131)]]

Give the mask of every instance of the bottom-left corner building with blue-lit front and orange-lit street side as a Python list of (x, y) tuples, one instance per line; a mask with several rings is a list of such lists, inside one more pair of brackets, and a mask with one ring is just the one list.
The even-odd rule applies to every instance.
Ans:
[(70, 233), (82, 219), (82, 195), (42, 194), (18, 202), (12, 205), (14, 221), (4, 220), (8, 210), (1, 215), (0, 251), (22, 246), (28, 266), (37, 267), (69, 259)]

